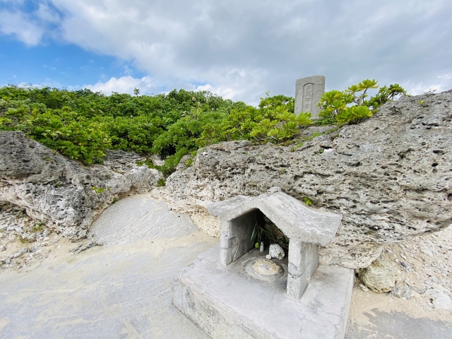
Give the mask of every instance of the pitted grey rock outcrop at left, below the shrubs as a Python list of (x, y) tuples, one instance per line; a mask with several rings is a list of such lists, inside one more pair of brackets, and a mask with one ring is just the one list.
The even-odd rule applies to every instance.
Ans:
[(143, 159), (114, 151), (104, 165), (85, 167), (22, 132), (0, 131), (0, 201), (25, 209), (71, 240), (81, 239), (114, 199), (155, 186), (160, 174), (138, 167), (137, 160)]

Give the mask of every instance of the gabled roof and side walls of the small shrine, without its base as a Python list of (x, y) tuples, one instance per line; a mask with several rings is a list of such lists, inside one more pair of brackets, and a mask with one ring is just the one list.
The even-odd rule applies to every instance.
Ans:
[(270, 218), (290, 239), (287, 296), (299, 299), (317, 268), (317, 245), (329, 244), (342, 217), (309, 208), (292, 196), (273, 187), (256, 197), (236, 196), (211, 203), (211, 215), (220, 218), (220, 265), (226, 267), (254, 248), (250, 237), (259, 211)]

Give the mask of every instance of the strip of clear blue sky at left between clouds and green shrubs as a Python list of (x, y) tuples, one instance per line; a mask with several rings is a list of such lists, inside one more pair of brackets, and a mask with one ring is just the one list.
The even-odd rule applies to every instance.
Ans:
[(59, 88), (81, 88), (113, 76), (145, 76), (129, 61), (88, 52), (75, 44), (49, 41), (29, 47), (8, 36), (0, 36), (0, 74), (2, 84), (31, 83)]

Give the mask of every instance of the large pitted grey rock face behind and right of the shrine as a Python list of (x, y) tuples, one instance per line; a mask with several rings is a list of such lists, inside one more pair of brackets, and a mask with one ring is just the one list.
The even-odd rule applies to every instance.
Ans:
[[(220, 201), (279, 186), (343, 215), (320, 263), (363, 268), (383, 244), (452, 220), (452, 90), (403, 97), (374, 117), (291, 147), (232, 141), (198, 152), (167, 179), (174, 198)], [(292, 150), (292, 151), (291, 151)]]

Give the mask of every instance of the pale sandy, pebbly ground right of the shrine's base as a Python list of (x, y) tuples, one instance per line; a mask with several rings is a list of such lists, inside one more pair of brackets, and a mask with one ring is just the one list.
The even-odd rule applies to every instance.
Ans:
[(346, 338), (452, 338), (452, 309), (434, 304), (434, 292), (452, 295), (452, 227), (387, 246), (381, 257), (398, 283), (376, 294), (355, 279)]

